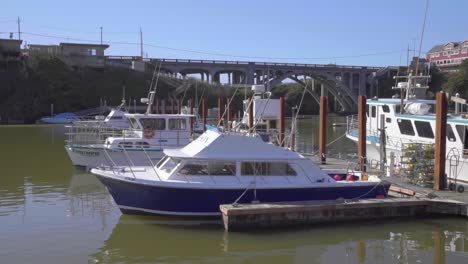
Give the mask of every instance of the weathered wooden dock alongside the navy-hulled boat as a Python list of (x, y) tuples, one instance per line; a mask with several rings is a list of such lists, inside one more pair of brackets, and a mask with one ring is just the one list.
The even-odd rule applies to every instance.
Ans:
[[(347, 166), (347, 161), (330, 158), (327, 164), (320, 165), (324, 169), (346, 169)], [(389, 196), (393, 197), (221, 205), (224, 228), (241, 231), (395, 217), (468, 217), (467, 193), (434, 191), (405, 183), (398, 177), (385, 177), (385, 180), (392, 183)]]

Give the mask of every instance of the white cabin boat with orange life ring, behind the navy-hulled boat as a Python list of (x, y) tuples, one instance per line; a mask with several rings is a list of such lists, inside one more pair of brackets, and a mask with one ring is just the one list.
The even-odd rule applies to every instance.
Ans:
[(65, 149), (77, 168), (101, 165), (151, 165), (163, 148), (190, 142), (192, 115), (125, 114), (128, 129), (70, 126)]

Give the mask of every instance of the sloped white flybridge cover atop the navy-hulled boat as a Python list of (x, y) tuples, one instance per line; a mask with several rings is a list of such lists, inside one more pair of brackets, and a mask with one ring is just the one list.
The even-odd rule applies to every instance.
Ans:
[(171, 157), (210, 160), (291, 160), (304, 159), (299, 153), (263, 142), (260, 137), (207, 130), (180, 149), (165, 149)]

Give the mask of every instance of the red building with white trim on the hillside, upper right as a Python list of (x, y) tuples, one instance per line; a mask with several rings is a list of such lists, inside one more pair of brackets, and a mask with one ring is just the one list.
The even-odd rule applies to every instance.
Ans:
[(436, 45), (426, 53), (426, 59), (443, 71), (453, 71), (468, 59), (468, 40)]

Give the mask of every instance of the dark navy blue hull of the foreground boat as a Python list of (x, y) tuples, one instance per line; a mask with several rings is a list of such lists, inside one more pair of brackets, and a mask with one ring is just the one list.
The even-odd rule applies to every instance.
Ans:
[[(179, 216), (219, 215), (219, 205), (251, 203), (254, 190), (249, 189), (198, 189), (166, 187), (135, 183), (112, 177), (96, 175), (105, 185), (124, 214), (162, 214)], [(376, 186), (378, 185), (379, 186)], [(339, 187), (303, 187), (256, 189), (259, 202), (289, 202), (310, 200), (336, 200), (338, 198), (386, 197), (390, 184), (355, 185)]]

